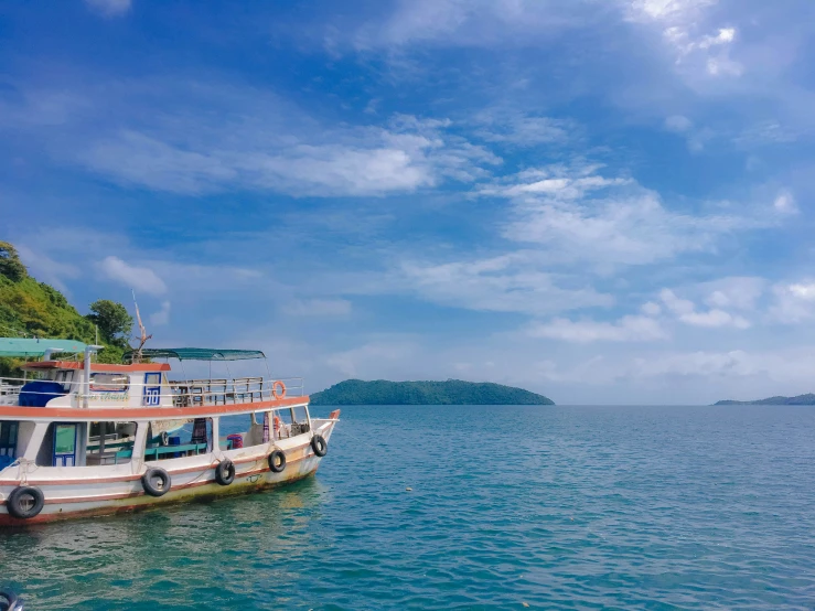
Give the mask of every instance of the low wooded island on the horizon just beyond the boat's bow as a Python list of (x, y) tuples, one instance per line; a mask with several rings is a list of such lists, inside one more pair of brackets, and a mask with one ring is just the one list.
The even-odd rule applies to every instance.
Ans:
[(555, 405), (555, 401), (523, 388), (490, 382), (346, 379), (311, 395), (311, 405)]

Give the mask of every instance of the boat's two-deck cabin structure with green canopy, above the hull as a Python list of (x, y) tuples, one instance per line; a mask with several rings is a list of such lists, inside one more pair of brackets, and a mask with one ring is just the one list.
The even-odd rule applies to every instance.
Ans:
[(103, 364), (92, 362), (92, 347), (84, 361), (30, 362), (23, 378), (0, 379), (0, 472), (20, 460), (33, 468), (165, 461), (311, 430), (301, 378), (232, 377), (227, 367), (224, 377), (173, 379), (170, 364), (157, 362), (265, 361), (260, 351), (143, 350), (127, 354), (129, 363)]

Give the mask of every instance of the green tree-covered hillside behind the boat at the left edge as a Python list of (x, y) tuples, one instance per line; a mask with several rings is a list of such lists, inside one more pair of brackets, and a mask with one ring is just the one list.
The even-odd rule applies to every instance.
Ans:
[[(101, 363), (120, 363), (128, 349), (132, 318), (120, 303), (100, 300), (82, 315), (55, 288), (29, 276), (17, 249), (0, 242), (0, 336), (78, 340), (93, 344), (96, 326), (105, 346), (96, 357)], [(0, 375), (19, 373), (22, 360), (0, 358)]]

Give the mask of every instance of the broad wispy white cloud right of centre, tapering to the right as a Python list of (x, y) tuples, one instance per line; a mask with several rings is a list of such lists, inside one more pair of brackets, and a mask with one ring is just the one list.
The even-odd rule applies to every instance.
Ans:
[(672, 212), (657, 193), (628, 176), (599, 175), (598, 169), (529, 170), (482, 186), (478, 193), (513, 201), (504, 237), (536, 245), (550, 261), (585, 260), (604, 269), (711, 251), (721, 236), (769, 223)]

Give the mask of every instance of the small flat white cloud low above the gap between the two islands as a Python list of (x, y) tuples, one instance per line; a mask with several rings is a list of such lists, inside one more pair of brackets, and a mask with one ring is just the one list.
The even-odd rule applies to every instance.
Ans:
[(533, 324), (527, 333), (533, 337), (573, 343), (652, 342), (667, 337), (659, 323), (648, 317), (623, 317), (615, 323), (555, 319), (548, 323)]

